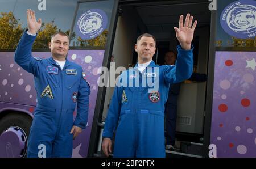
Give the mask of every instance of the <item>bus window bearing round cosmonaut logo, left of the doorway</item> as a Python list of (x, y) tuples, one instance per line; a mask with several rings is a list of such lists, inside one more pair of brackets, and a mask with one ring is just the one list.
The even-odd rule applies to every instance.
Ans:
[(113, 4), (114, 1), (79, 3), (71, 47), (105, 47)]

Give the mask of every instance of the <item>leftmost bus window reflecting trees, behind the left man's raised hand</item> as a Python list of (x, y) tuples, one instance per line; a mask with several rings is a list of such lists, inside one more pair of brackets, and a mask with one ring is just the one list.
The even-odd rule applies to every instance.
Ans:
[(44, 10), (40, 8), (38, 1), (10, 0), (1, 2), (0, 40), (5, 43), (0, 44), (0, 49), (16, 48), (23, 31), (27, 28), (27, 9), (35, 10), (37, 19), (42, 18), (43, 22), (33, 49), (48, 49), (48, 42), (53, 33), (63, 31), (69, 34), (76, 3), (77, 0), (46, 1)]

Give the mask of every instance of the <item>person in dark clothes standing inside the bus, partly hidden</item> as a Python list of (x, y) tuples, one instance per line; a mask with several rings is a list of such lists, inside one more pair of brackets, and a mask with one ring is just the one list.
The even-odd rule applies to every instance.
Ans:
[[(164, 54), (165, 65), (175, 65), (176, 52), (170, 50)], [(192, 73), (189, 78), (191, 81), (204, 82), (207, 80), (206, 74)], [(166, 115), (166, 150), (174, 150), (175, 145), (175, 130), (176, 130), (176, 117), (177, 117), (177, 100), (180, 93), (179, 83), (171, 84), (168, 92), (168, 99), (165, 105)]]

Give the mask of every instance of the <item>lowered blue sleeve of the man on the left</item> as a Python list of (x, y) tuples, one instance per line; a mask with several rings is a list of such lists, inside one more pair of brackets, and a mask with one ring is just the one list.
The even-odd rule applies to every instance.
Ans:
[(89, 95), (90, 86), (81, 73), (81, 81), (77, 95), (77, 114), (73, 125), (79, 126), (82, 129), (86, 128), (88, 122)]

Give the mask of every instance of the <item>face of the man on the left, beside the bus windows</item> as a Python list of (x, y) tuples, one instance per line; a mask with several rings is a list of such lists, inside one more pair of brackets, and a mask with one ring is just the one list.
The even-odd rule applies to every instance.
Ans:
[(67, 36), (55, 35), (49, 43), (53, 57), (65, 58), (68, 54), (69, 40)]

